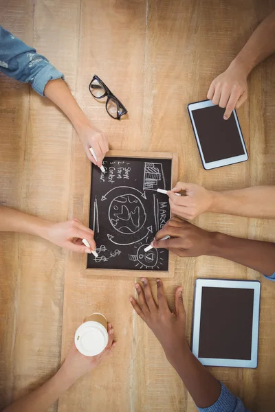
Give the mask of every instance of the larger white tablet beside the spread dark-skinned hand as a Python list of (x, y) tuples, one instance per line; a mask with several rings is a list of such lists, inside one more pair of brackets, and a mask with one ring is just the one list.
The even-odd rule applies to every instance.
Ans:
[(197, 279), (192, 352), (203, 365), (256, 367), (261, 283)]

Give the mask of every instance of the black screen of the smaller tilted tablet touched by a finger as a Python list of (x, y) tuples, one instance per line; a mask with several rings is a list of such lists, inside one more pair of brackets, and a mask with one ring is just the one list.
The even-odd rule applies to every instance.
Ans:
[(224, 120), (224, 111), (219, 106), (192, 111), (206, 163), (245, 154), (234, 115)]

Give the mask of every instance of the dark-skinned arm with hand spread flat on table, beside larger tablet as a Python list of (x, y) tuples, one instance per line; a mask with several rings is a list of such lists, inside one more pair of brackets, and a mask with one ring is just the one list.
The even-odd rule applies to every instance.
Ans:
[[(192, 354), (186, 341), (186, 312), (181, 287), (175, 291), (175, 311), (168, 307), (162, 280), (157, 279), (157, 302), (153, 298), (148, 279), (142, 278), (143, 288), (135, 284), (138, 301), (130, 297), (135, 312), (152, 330), (162, 345), (167, 360), (179, 374), (186, 389), (199, 408), (212, 407), (221, 396), (221, 384)], [(236, 398), (230, 393), (233, 402)], [(235, 399), (234, 399), (235, 398)], [(234, 412), (222, 404), (223, 412)], [(217, 411), (217, 409), (215, 409)], [(239, 409), (239, 411), (245, 411)]]

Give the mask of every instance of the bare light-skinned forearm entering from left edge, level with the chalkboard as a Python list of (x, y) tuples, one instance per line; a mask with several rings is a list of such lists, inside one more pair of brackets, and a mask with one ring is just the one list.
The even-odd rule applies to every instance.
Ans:
[(45, 237), (46, 230), (51, 223), (22, 211), (0, 206), (0, 231), (28, 233)]

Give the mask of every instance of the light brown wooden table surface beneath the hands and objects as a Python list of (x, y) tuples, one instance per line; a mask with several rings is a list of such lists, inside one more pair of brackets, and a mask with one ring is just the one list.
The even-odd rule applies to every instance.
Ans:
[[(179, 180), (212, 190), (275, 184), (275, 56), (252, 72), (239, 109), (250, 159), (203, 170), (186, 105), (206, 98), (272, 0), (0, 0), (0, 23), (63, 73), (72, 93), (117, 150), (177, 152)], [(96, 73), (129, 111), (120, 122), (88, 90)], [(28, 85), (0, 74), (0, 203), (54, 221), (84, 220), (89, 162), (67, 118)], [(203, 214), (195, 224), (274, 240), (275, 221)], [(133, 313), (135, 277), (90, 277), (80, 255), (32, 236), (0, 236), (0, 407), (58, 369), (85, 315), (115, 326), (109, 361), (55, 404), (59, 412), (196, 411), (150, 330)], [(261, 279), (257, 369), (211, 368), (253, 412), (275, 408), (275, 288), (256, 271), (220, 258), (177, 258), (165, 281), (173, 305), (184, 288), (190, 341), (196, 277)], [(155, 290), (155, 289), (154, 289)]]

